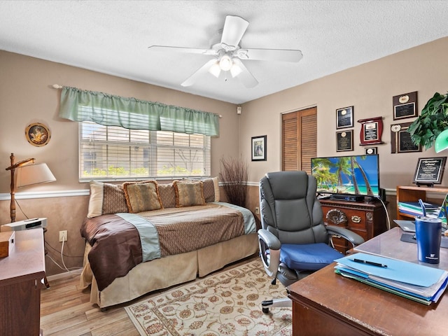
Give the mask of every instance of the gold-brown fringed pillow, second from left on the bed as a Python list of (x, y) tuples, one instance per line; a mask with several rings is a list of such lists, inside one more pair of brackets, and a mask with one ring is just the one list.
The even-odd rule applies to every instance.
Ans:
[(125, 191), (127, 207), (132, 214), (162, 209), (156, 181), (125, 182), (123, 183), (123, 190)]

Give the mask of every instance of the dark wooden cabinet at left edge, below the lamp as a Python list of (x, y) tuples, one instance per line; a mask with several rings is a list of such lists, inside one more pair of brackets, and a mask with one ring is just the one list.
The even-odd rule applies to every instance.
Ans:
[(45, 277), (43, 230), (15, 232), (8, 257), (0, 258), (0, 335), (42, 335), (41, 288)]

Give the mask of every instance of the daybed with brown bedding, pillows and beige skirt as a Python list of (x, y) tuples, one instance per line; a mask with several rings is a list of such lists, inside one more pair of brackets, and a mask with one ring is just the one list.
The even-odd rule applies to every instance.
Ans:
[(218, 180), (91, 182), (80, 286), (102, 309), (205, 276), (258, 251), (255, 218)]

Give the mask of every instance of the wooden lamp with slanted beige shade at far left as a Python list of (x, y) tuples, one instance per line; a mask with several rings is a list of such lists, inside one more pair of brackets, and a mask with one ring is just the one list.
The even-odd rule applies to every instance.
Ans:
[[(10, 156), (11, 165), (6, 170), (11, 171), (11, 223), (15, 222), (15, 188), (31, 186), (39, 183), (56, 181), (55, 176), (45, 163), (34, 165), (34, 158), (14, 162), (14, 153)], [(17, 174), (15, 171), (17, 170)]]

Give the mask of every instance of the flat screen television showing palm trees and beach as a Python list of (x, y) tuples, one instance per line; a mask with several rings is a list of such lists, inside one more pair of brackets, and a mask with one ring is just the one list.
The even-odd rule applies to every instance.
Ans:
[(381, 196), (377, 154), (311, 158), (311, 174), (321, 195)]

